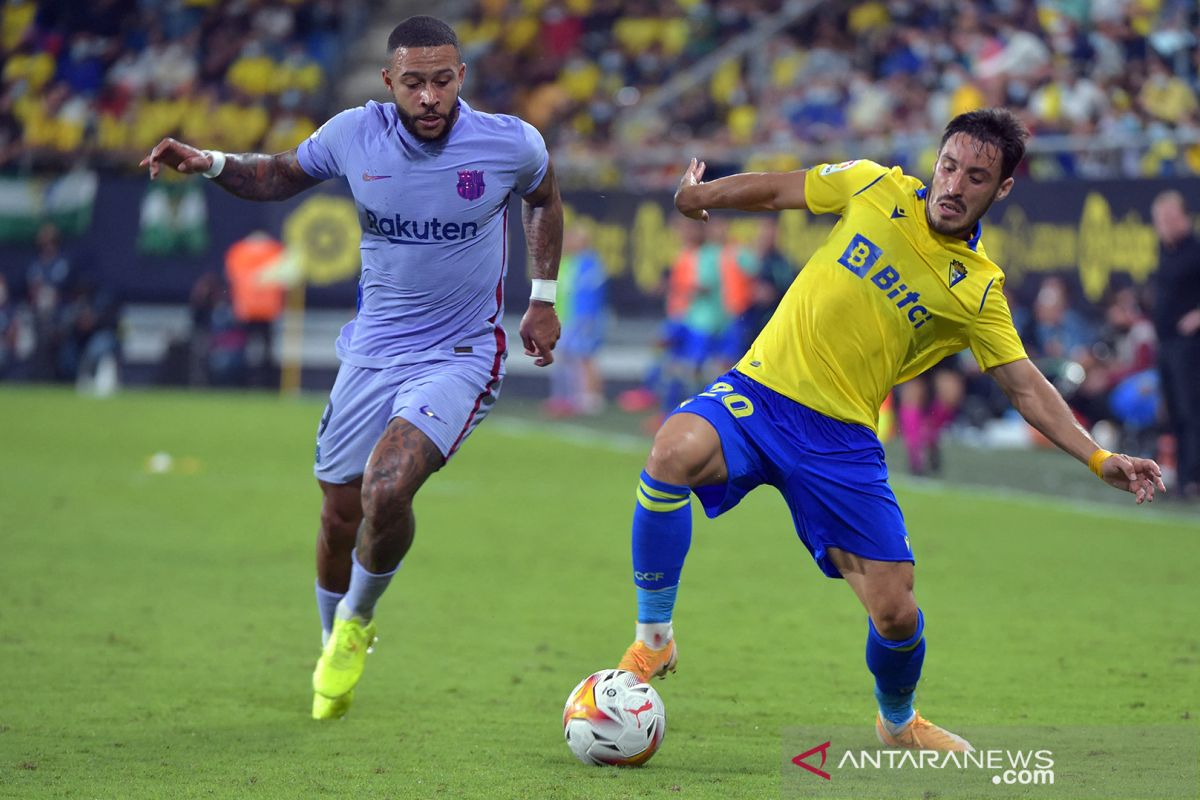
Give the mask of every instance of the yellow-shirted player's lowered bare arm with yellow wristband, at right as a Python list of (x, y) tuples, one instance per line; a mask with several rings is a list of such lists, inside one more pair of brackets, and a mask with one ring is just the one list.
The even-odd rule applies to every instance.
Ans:
[[(1075, 421), (1058, 391), (1028, 359), (992, 367), (1008, 399), (1025, 420), (1061, 450), (1087, 464), (1102, 450)], [(1114, 453), (1100, 464), (1100, 477), (1109, 486), (1129, 492), (1138, 503), (1154, 501), (1154, 491), (1165, 492), (1163, 471), (1150, 458)]]

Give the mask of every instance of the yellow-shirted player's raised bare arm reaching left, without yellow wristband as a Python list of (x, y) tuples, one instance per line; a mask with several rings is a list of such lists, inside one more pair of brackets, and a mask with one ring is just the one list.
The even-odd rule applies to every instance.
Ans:
[(679, 179), (676, 207), (685, 217), (707, 221), (708, 209), (782, 211), (808, 207), (804, 203), (805, 169), (791, 173), (742, 173), (703, 184), (704, 168), (704, 162), (692, 158)]

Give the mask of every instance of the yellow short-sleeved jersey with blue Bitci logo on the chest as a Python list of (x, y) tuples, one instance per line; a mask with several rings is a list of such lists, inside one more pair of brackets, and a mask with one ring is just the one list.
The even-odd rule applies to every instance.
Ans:
[(1025, 357), (1004, 273), (971, 241), (935, 233), (925, 187), (899, 167), (823, 164), (809, 211), (841, 219), (737, 369), (827, 416), (875, 428), (892, 387), (970, 347), (984, 369)]

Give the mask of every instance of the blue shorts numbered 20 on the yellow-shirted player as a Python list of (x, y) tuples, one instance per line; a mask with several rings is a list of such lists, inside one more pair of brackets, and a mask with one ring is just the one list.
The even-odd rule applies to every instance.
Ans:
[(721, 439), (728, 480), (694, 489), (710, 518), (767, 483), (784, 495), (797, 535), (830, 578), (841, 577), (830, 547), (916, 563), (883, 445), (870, 428), (818, 414), (736, 369), (672, 414), (703, 417)]

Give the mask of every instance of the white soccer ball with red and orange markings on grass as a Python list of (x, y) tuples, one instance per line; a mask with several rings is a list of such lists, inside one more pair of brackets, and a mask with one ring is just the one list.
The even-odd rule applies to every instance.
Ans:
[(662, 698), (624, 669), (601, 669), (580, 681), (563, 709), (566, 746), (584, 764), (637, 766), (667, 733)]

